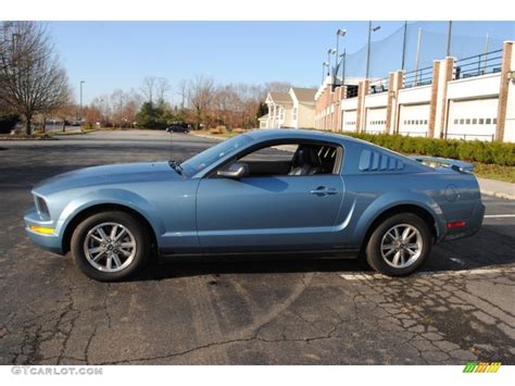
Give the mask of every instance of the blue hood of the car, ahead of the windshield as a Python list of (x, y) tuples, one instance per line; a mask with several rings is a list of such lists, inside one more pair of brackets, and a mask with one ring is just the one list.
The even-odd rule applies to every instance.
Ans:
[(78, 187), (178, 178), (181, 176), (169, 166), (167, 161), (113, 164), (59, 174), (40, 182), (33, 191), (49, 195)]

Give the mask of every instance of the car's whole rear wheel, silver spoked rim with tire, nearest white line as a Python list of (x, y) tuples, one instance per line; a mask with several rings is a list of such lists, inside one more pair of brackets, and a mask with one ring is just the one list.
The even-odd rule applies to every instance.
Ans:
[(366, 260), (388, 276), (404, 276), (416, 271), (431, 252), (432, 235), (427, 223), (413, 213), (386, 219), (373, 232)]

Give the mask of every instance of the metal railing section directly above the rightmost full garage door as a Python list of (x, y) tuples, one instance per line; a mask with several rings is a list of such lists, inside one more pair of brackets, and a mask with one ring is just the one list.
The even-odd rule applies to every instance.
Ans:
[(501, 72), (501, 69), (502, 50), (480, 53), (457, 60), (454, 67), (454, 79), (494, 74)]

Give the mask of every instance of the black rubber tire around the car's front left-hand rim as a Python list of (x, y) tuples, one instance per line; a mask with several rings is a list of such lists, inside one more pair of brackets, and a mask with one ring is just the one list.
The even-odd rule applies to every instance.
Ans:
[[(136, 242), (134, 257), (127, 266), (116, 272), (104, 272), (95, 267), (85, 253), (85, 241), (88, 233), (96, 226), (104, 223), (116, 223), (129, 231)], [(116, 282), (128, 278), (147, 263), (150, 254), (150, 236), (141, 222), (134, 215), (122, 211), (108, 211), (92, 214), (85, 219), (74, 229), (71, 240), (71, 250), (75, 263), (86, 276), (99, 282)], [(114, 250), (116, 251), (116, 250)], [(122, 257), (122, 254), (120, 254)], [(123, 265), (122, 265), (123, 266)]]

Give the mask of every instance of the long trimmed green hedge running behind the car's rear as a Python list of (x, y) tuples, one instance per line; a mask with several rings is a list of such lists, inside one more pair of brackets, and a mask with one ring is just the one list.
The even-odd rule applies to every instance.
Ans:
[(436, 139), (406, 137), (388, 134), (341, 133), (360, 138), (387, 149), (431, 157), (460, 159), (469, 162), (515, 166), (515, 144), (465, 141), (459, 139)]

